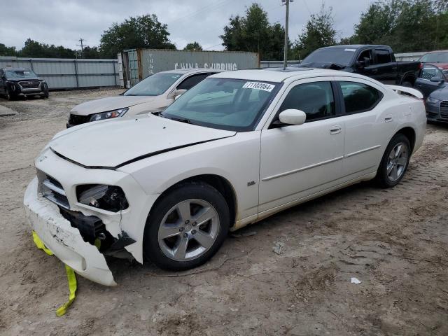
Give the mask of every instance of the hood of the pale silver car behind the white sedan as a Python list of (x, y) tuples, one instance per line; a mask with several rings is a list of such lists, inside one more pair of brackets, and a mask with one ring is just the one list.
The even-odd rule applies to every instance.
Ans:
[(76, 105), (70, 113), (78, 116), (88, 116), (93, 113), (124, 109), (137, 104), (148, 103), (155, 99), (153, 96), (116, 96), (90, 100)]

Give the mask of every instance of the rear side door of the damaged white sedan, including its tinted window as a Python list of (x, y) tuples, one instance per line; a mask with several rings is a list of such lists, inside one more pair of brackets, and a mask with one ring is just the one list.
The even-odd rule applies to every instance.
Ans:
[(397, 125), (393, 106), (384, 109), (382, 87), (361, 78), (336, 77), (342, 98), (345, 181), (375, 172)]

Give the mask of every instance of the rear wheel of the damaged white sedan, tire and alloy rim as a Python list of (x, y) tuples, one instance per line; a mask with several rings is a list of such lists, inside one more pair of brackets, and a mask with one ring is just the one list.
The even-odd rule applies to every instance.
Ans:
[(382, 188), (396, 186), (405, 175), (411, 157), (411, 145), (404, 134), (393, 136), (378, 167), (377, 183)]

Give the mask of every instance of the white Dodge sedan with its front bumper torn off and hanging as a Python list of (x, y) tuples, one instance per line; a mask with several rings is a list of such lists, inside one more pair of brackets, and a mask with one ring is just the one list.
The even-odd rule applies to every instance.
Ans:
[(395, 186), (425, 125), (418, 91), (353, 73), (218, 73), (161, 114), (57, 134), (25, 209), (60, 260), (111, 286), (104, 255), (188, 269), (229, 230), (360, 181)]

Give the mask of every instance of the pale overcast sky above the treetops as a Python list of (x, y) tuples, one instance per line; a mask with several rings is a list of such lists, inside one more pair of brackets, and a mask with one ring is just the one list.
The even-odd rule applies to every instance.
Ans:
[[(113, 22), (130, 16), (156, 14), (168, 25), (169, 38), (178, 49), (198, 41), (204, 49), (222, 50), (223, 27), (231, 15), (244, 15), (247, 6), (258, 2), (269, 14), (270, 22), (284, 24), (285, 7), (281, 0), (0, 0), (0, 43), (22, 48), (25, 40), (79, 48), (99, 45), (99, 38)], [(371, 0), (325, 0), (332, 6), (339, 37), (353, 33), (353, 25)], [(300, 34), (310, 13), (316, 13), (320, 0), (294, 0), (290, 4), (290, 40)]]

